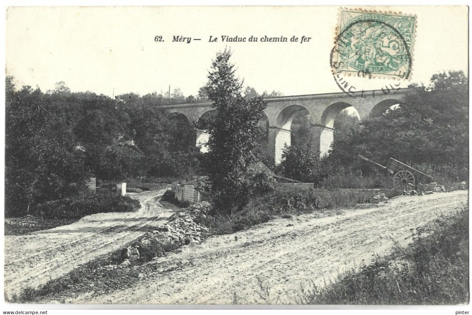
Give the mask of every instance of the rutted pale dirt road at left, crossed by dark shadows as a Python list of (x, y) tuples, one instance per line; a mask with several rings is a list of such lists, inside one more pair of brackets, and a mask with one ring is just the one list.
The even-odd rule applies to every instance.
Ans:
[(172, 212), (154, 198), (166, 190), (130, 193), (141, 202), (137, 212), (101, 213), (50, 230), (5, 236), (6, 295), (11, 297), (22, 288), (36, 288), (59, 278), (162, 224)]

